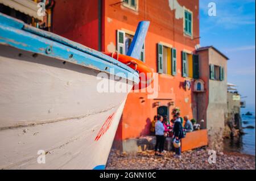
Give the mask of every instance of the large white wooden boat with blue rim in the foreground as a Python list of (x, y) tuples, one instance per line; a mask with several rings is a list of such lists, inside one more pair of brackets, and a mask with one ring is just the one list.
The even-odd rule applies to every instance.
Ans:
[[(112, 75), (127, 91), (97, 90)], [(0, 168), (104, 169), (138, 83), (114, 58), (0, 14)]]

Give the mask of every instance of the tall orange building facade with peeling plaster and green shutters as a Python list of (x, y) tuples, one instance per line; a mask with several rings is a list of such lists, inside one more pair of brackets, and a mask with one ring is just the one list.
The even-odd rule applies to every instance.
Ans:
[(128, 95), (115, 141), (150, 134), (153, 117), (171, 116), (175, 107), (197, 118), (192, 87), (199, 77), (199, 0), (58, 0), (53, 11), (53, 32), (105, 52), (127, 52), (142, 20), (150, 27), (141, 60), (158, 73), (158, 96)]

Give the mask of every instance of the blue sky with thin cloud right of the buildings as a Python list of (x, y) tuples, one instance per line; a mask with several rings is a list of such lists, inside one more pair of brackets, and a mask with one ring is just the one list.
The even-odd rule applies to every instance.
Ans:
[[(216, 3), (216, 16), (208, 3)], [(228, 82), (236, 84), (255, 110), (255, 0), (200, 0), (200, 44), (213, 45), (230, 58)]]

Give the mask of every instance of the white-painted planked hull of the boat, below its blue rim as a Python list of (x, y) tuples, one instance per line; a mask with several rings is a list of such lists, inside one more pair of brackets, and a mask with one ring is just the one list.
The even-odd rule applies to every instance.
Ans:
[(104, 167), (129, 91), (98, 92), (98, 73), (0, 45), (0, 169)]

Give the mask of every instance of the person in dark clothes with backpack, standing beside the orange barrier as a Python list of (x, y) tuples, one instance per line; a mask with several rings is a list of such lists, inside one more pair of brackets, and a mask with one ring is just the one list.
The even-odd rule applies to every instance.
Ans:
[[(174, 115), (174, 138), (175, 140), (181, 141), (183, 137), (183, 128), (181, 124), (180, 117), (178, 115)], [(181, 158), (181, 146), (179, 148), (175, 148), (175, 157)]]

